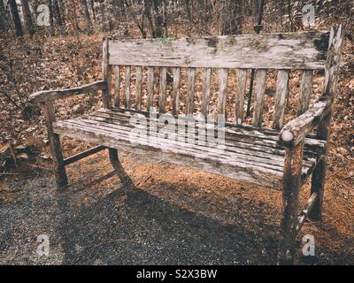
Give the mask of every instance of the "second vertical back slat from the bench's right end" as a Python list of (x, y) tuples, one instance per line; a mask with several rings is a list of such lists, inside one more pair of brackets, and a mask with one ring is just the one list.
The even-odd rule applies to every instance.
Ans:
[(289, 70), (279, 70), (276, 82), (273, 128), (281, 129), (284, 120), (285, 104), (288, 96)]

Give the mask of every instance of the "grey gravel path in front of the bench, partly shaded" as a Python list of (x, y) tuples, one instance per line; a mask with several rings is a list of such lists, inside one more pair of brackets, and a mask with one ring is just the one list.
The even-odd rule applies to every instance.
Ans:
[[(274, 233), (277, 224), (262, 223), (258, 207), (244, 207), (258, 221), (237, 210), (236, 225), (227, 224), (219, 212), (208, 216), (123, 185), (103, 160), (86, 161), (90, 170), (71, 167), (78, 180), (65, 192), (49, 173), (11, 184), (12, 197), (0, 198), (0, 264), (274, 264), (277, 242), (266, 230)], [(186, 195), (174, 197), (183, 203)], [(49, 256), (36, 253), (41, 234), (49, 237)]]

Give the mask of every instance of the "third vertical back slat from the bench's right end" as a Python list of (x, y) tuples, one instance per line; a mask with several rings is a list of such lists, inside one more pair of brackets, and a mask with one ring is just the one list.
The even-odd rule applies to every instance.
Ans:
[(253, 109), (253, 125), (262, 126), (263, 104), (266, 92), (266, 69), (258, 69), (256, 74), (255, 105)]

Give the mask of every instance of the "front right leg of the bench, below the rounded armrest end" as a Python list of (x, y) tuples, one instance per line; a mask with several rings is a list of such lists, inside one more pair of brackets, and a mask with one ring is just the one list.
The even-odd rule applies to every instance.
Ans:
[(281, 242), (278, 249), (278, 264), (294, 261), (298, 195), (301, 187), (301, 171), (304, 142), (294, 149), (286, 149), (283, 176), (283, 215), (281, 218)]

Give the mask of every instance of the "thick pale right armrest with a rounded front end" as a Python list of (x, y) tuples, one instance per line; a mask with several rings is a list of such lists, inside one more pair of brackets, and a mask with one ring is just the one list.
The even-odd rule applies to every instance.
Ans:
[(326, 117), (331, 110), (332, 103), (328, 100), (320, 100), (314, 103), (312, 108), (305, 111), (296, 119), (282, 127), (279, 136), (279, 143), (286, 147), (295, 147), (299, 142), (303, 141), (307, 134), (310, 134), (313, 127)]

